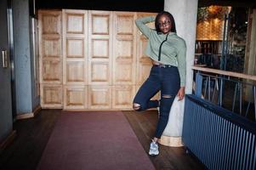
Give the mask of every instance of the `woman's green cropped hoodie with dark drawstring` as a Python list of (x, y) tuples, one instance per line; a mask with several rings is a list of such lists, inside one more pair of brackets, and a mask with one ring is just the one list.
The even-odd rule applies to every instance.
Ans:
[(139, 31), (141, 31), (145, 37), (149, 39), (145, 48), (145, 54), (151, 59), (158, 61), (158, 53), (160, 45), (162, 43), (161, 59), (158, 61), (164, 65), (174, 65), (178, 67), (180, 77), (180, 87), (185, 87), (185, 53), (186, 46), (185, 40), (178, 37), (175, 32), (168, 34), (159, 34), (156, 30), (151, 29), (145, 24), (155, 21), (155, 16), (147, 16), (135, 21)]

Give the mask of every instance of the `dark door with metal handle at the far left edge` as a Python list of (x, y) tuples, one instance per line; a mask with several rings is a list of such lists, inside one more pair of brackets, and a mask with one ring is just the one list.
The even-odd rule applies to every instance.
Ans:
[[(0, 143), (13, 128), (7, 9), (7, 0), (0, 1)], [(6, 51), (7, 54), (5, 68), (2, 51)]]

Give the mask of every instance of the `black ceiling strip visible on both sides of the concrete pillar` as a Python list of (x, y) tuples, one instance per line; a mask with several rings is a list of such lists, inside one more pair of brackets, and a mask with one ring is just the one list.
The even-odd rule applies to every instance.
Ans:
[[(159, 12), (164, 0), (35, 0), (37, 8), (77, 8), (111, 11)], [(198, 0), (198, 7), (222, 5), (256, 8), (256, 0)]]

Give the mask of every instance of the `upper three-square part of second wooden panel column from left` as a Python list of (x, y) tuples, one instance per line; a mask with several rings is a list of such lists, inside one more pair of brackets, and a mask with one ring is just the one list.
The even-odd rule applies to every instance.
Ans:
[(88, 84), (88, 11), (64, 9), (62, 17), (64, 85), (86, 85)]

